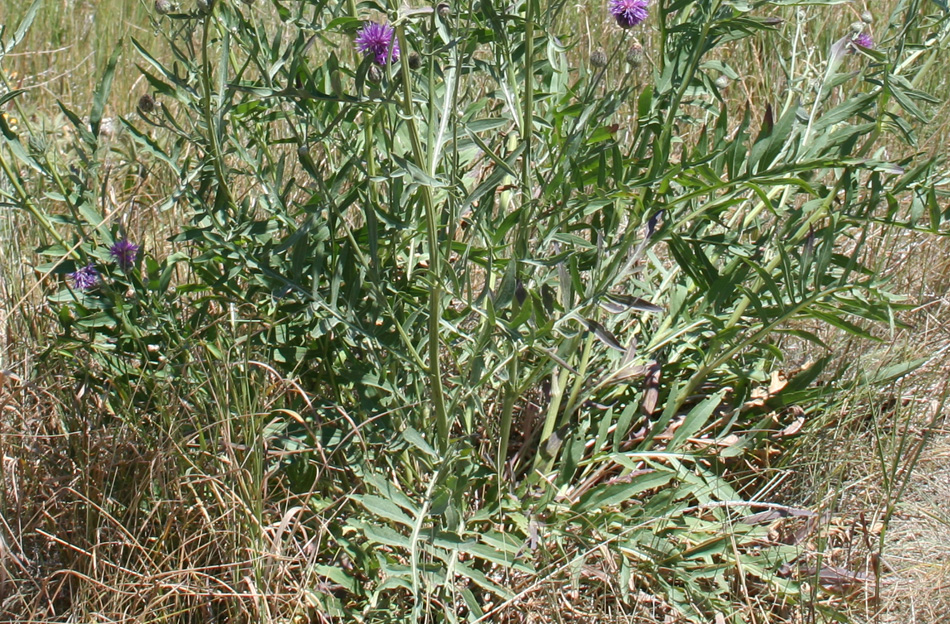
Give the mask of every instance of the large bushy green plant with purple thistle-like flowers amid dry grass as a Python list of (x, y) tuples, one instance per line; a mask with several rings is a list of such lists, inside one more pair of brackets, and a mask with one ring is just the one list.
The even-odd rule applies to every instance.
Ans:
[[(610, 0), (585, 47), (540, 0), (374, 5), (386, 21), (275, 3), (272, 24), (156, 3), (175, 27), (163, 54), (131, 42), (155, 96), (122, 123), (173, 180), (159, 209), (186, 215), (167, 254), (140, 258), (99, 211), (96, 167), (67, 184), (4, 133), (5, 193), (39, 219), (12, 163), (60, 185), (44, 270), (95, 259), (68, 273), (88, 296), (49, 293), (59, 351), (130, 422), (162, 389), (200, 406), (154, 426), (220, 475), (200, 500), (228, 484), (236, 550), (319, 536), (294, 570), (320, 617), (494, 621), (530, 593), (513, 588), (591, 567), (671, 618), (739, 621), (739, 578), (776, 618), (803, 608), (803, 554), (755, 515), (776, 503), (744, 467), (838, 389), (816, 326), (895, 322), (874, 228), (921, 227), (904, 203), (934, 232), (947, 215), (938, 163), (881, 149), (927, 120), (901, 46), (862, 31), (818, 78), (793, 57), (784, 101), (723, 98), (729, 53), (790, 4)], [(851, 46), (864, 65), (839, 73)], [(90, 162), (108, 82), (88, 125), (68, 115)], [(823, 357), (776, 383), (793, 344)], [(267, 557), (231, 563), (298, 615), (263, 597), (283, 595)]]

